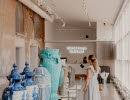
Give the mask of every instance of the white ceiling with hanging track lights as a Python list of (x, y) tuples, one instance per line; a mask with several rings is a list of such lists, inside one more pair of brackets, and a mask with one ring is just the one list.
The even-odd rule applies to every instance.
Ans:
[(114, 24), (116, 16), (124, 0), (86, 0), (86, 16), (83, 0), (44, 0), (66, 23), (85, 24), (90, 21), (103, 21)]

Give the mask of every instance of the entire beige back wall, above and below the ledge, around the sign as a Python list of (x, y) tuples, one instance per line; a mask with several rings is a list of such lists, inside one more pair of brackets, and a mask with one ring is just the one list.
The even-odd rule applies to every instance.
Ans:
[[(84, 56), (89, 54), (96, 54), (96, 43), (85, 43), (85, 42), (64, 42), (69, 40), (86, 40), (86, 35), (89, 35), (90, 40), (96, 40), (96, 29), (86, 29), (83, 27), (67, 25), (62, 28), (60, 24), (51, 24), (46, 21), (45, 23), (45, 47), (50, 49), (60, 49), (62, 57), (67, 57), (68, 63), (72, 64), (76, 60), (78, 63), (82, 62)], [(96, 26), (96, 24), (95, 24)], [(63, 42), (57, 42), (62, 40)], [(53, 41), (53, 42), (51, 42)], [(67, 46), (81, 46), (87, 47), (87, 51), (84, 54), (70, 54), (66, 47)]]

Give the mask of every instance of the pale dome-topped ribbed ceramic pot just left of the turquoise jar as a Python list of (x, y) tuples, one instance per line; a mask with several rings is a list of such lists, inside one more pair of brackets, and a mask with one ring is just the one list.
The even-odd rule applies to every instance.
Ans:
[(51, 76), (48, 70), (40, 65), (34, 69), (34, 82), (39, 87), (39, 100), (50, 100), (51, 96)]

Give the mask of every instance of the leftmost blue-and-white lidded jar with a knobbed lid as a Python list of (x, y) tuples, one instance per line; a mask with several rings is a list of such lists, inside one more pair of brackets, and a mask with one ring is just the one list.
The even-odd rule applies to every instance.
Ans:
[(11, 74), (7, 76), (10, 84), (4, 90), (2, 100), (28, 100), (28, 92), (26, 87), (22, 86), (22, 76), (16, 69), (17, 65), (14, 64), (13, 67), (14, 69), (11, 71)]

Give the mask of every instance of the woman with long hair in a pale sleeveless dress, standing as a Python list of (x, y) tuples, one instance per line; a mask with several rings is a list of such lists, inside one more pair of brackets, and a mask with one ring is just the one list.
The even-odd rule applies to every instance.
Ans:
[(97, 80), (100, 68), (98, 67), (96, 57), (94, 55), (89, 55), (88, 63), (90, 66), (87, 67), (87, 78), (83, 89), (85, 92), (84, 100), (101, 100), (99, 83)]

